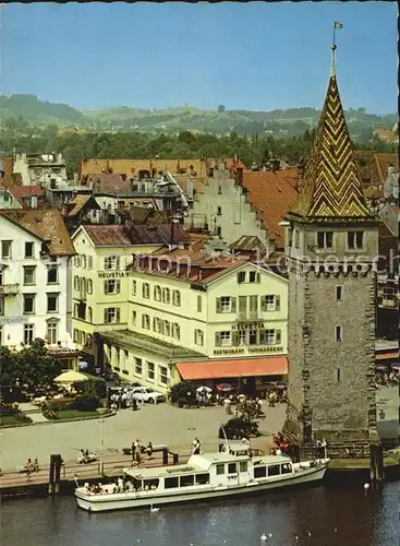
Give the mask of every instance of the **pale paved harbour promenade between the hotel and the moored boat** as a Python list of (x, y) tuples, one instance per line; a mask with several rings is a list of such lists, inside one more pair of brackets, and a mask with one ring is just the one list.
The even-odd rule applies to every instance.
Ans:
[[(282, 427), (286, 405), (267, 407), (265, 403), (264, 411), (266, 418), (260, 424), (263, 437), (254, 443), (262, 449), (269, 446), (270, 436)], [(195, 436), (203, 447), (218, 442), (219, 425), (228, 418), (220, 406), (180, 410), (165, 403), (156, 406), (146, 404), (137, 412), (121, 410), (116, 416), (102, 419), (102, 426), (100, 419), (92, 419), (2, 429), (0, 467), (12, 470), (25, 464), (28, 458), (36, 456), (41, 464), (48, 464), (52, 453), (60, 453), (64, 461), (72, 461), (81, 448), (98, 452), (101, 428), (106, 455), (130, 447), (136, 438), (143, 443), (168, 443), (187, 453)]]

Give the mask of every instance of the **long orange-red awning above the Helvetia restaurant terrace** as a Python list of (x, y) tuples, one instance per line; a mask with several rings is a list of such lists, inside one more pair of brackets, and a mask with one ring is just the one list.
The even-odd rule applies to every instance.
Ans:
[(177, 363), (175, 366), (183, 380), (284, 376), (288, 373), (286, 356)]

